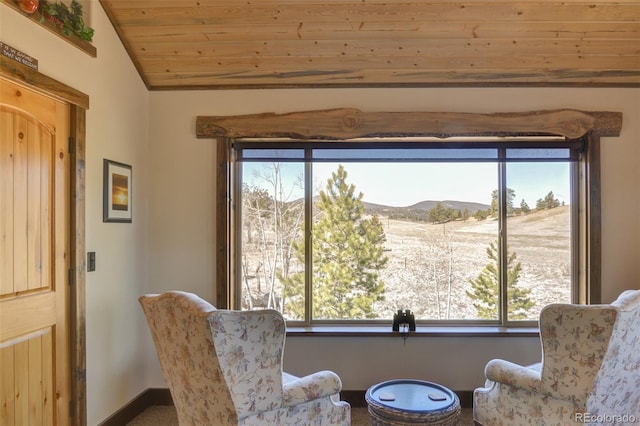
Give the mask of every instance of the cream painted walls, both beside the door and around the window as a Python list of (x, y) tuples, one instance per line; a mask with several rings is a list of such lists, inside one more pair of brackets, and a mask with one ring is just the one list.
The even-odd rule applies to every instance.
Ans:
[[(0, 4), (0, 41), (37, 58), (40, 71), (90, 96), (87, 114), (88, 424), (148, 387), (164, 386), (137, 297), (169, 289), (214, 299), (215, 149), (195, 138), (197, 115), (355, 107), (365, 111), (516, 112), (578, 108), (624, 113), (602, 152), (603, 298), (640, 288), (640, 89), (297, 89), (148, 93), (102, 7), (90, 5), (91, 58)], [(133, 165), (134, 219), (102, 223), (102, 160)], [(289, 338), (285, 367), (333, 369), (344, 388), (417, 377), (457, 390), (482, 383), (487, 360), (533, 362), (536, 339)], [(401, 362), (397, 361), (402, 359)]]

